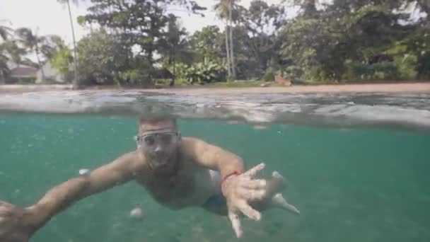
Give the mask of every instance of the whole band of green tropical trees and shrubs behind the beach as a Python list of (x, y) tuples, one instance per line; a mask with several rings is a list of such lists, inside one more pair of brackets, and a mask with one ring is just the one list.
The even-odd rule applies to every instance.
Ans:
[(0, 23), (0, 79), (10, 74), (11, 63), (40, 67), (46, 60), (76, 86), (203, 85), (274, 76), (293, 83), (430, 79), (426, 0), (253, 0), (248, 8), (239, 0), (216, 0), (209, 10), (223, 25), (194, 33), (170, 8), (196, 15), (206, 10), (192, 0), (91, 0), (88, 14), (77, 17), (91, 33), (71, 49), (55, 36)]

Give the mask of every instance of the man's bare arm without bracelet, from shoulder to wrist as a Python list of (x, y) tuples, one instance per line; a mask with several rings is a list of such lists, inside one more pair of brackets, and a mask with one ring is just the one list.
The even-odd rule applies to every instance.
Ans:
[(49, 190), (39, 202), (28, 208), (35, 214), (33, 223), (42, 226), (74, 202), (132, 180), (143, 168), (143, 159), (136, 152), (131, 152), (91, 173), (67, 180)]

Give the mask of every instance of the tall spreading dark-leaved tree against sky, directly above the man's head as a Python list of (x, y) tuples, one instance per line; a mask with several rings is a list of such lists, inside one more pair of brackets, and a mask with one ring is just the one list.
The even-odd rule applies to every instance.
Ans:
[(190, 0), (92, 0), (90, 14), (84, 16), (87, 23), (98, 23), (108, 28), (127, 47), (138, 46), (138, 54), (145, 57), (152, 67), (154, 53), (161, 50), (164, 31), (168, 27), (168, 6), (185, 6), (193, 13), (204, 9)]

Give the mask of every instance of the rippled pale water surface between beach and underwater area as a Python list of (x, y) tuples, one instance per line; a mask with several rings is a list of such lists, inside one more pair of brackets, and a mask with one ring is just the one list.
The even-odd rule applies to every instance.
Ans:
[[(0, 112), (174, 115), (185, 119), (248, 122), (257, 129), (274, 122), (430, 129), (430, 94), (277, 93), (191, 96), (144, 91), (51, 91), (4, 95), (0, 99)], [(5, 123), (5, 120), (0, 120), (0, 125)]]

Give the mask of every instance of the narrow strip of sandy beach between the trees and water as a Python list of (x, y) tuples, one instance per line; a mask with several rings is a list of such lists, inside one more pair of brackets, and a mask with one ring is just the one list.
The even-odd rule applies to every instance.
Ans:
[[(74, 91), (71, 85), (0, 85), (0, 94), (40, 91)], [(245, 93), (430, 93), (430, 82), (416, 83), (351, 83), (285, 87), (176, 87), (176, 88), (118, 88), (95, 86), (79, 91), (142, 91), (166, 94), (245, 94)]]

